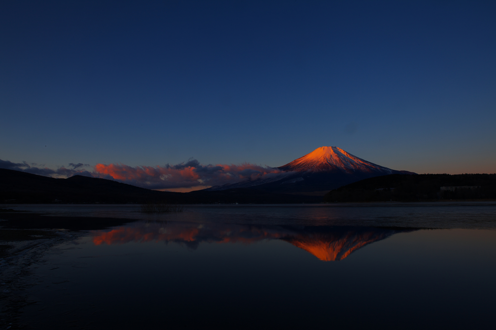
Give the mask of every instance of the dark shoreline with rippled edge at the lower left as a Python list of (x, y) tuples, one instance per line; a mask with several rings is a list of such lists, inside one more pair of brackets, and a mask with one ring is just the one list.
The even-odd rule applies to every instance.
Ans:
[[(2, 210), (3, 211), (3, 210)], [(37, 265), (58, 246), (98, 230), (134, 220), (57, 217), (30, 211), (0, 213), (0, 327), (22, 328), (22, 308), (38, 300), (30, 289), (43, 280), (34, 277)]]

